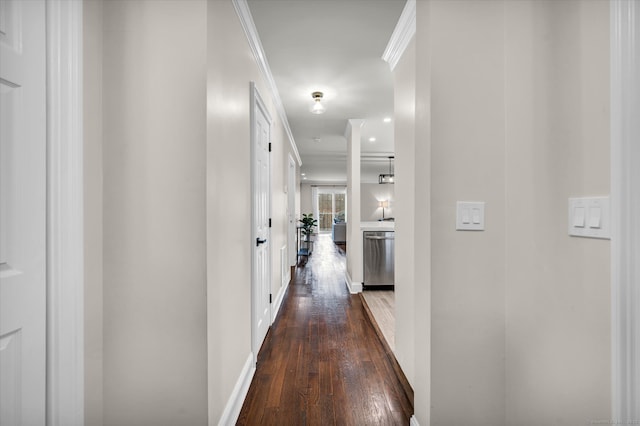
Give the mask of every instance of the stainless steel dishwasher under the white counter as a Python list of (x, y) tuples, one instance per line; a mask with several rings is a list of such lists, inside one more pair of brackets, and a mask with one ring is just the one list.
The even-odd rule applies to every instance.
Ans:
[(395, 275), (393, 231), (364, 231), (364, 287), (393, 286)]

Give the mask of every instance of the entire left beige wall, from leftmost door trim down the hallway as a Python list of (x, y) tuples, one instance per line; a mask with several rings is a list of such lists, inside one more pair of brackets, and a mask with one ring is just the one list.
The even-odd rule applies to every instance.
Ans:
[(251, 353), (250, 81), (273, 119), (274, 298), (292, 148), (230, 1), (84, 19), (86, 423), (216, 424)]

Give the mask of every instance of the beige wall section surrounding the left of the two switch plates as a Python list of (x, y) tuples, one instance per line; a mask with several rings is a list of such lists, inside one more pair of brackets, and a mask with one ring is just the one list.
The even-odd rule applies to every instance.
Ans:
[[(433, 2), (431, 13), (431, 419), (433, 424), (500, 425), (505, 381), (502, 2)], [(485, 201), (486, 231), (456, 231), (456, 201)]]

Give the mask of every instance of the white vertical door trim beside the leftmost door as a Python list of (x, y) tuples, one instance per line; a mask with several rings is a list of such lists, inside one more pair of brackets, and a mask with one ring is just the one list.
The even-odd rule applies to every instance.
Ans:
[(47, 425), (84, 424), (82, 2), (47, 1)]

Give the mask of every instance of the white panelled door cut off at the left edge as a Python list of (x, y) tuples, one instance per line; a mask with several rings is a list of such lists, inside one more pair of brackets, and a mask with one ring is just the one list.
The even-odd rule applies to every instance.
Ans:
[(0, 424), (45, 424), (44, 0), (0, 0)]

